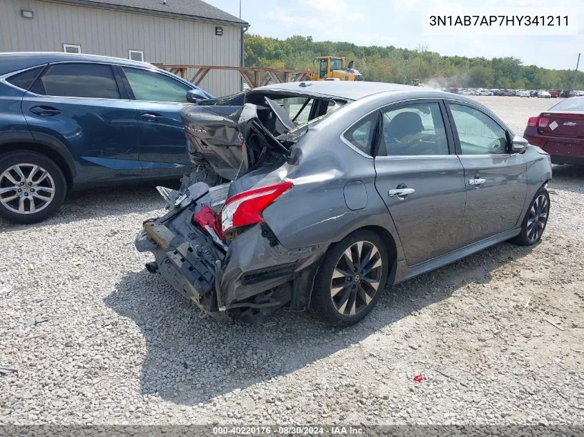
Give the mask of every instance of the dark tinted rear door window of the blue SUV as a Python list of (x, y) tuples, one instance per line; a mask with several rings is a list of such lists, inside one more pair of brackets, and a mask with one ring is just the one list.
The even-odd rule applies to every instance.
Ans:
[(55, 64), (35, 82), (31, 91), (63, 97), (120, 99), (111, 66), (104, 64)]

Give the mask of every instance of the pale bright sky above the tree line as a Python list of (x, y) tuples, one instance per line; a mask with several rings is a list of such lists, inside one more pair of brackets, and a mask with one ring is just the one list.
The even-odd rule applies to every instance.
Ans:
[[(172, 1), (172, 0), (170, 0)], [(226, 12), (239, 14), (239, 0), (205, 0)], [(350, 41), (361, 46), (395, 46), (428, 50), (441, 55), (467, 57), (518, 57), (524, 65), (574, 69), (578, 50), (583, 52), (584, 17), (580, 12), (577, 36), (468, 37), (422, 35), (422, 10), (447, 6), (554, 7), (577, 6), (565, 0), (242, 0), (241, 17), (249, 32), (266, 37), (312, 36), (314, 41)], [(584, 6), (584, 3), (581, 3)], [(584, 10), (584, 8), (581, 8)], [(487, 9), (488, 10), (488, 9)], [(531, 10), (531, 9), (529, 9)], [(554, 12), (555, 13), (555, 12)], [(572, 17), (571, 17), (572, 18)]]

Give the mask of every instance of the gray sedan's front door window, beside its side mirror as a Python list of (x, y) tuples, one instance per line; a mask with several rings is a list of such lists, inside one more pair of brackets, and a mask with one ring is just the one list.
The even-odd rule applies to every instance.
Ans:
[(475, 108), (449, 104), (462, 155), (507, 153), (507, 133), (495, 120)]

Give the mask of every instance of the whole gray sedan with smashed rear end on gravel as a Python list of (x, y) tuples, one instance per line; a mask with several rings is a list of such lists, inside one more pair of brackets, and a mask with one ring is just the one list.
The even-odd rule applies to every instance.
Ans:
[(547, 223), (549, 155), (468, 97), (278, 84), (182, 120), (191, 148), (234, 181), (171, 196), (136, 246), (218, 319), (286, 306), (353, 324), (387, 285), (505, 240), (536, 244)]

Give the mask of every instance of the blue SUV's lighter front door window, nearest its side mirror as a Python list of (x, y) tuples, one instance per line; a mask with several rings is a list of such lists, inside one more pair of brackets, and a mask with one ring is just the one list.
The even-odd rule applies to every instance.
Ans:
[(145, 101), (169, 101), (186, 103), (187, 91), (191, 87), (156, 71), (122, 67), (134, 98)]

